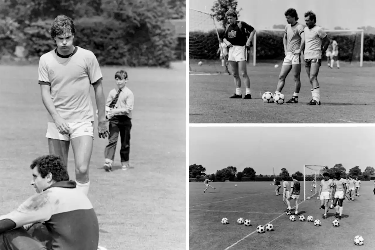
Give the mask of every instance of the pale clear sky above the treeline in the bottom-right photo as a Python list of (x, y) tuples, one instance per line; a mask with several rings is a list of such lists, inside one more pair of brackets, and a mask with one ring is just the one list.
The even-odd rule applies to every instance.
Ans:
[(263, 175), (273, 167), (276, 175), (283, 167), (303, 172), (303, 164), (375, 167), (375, 127), (190, 127), (189, 137), (189, 165), (206, 174), (228, 166)]

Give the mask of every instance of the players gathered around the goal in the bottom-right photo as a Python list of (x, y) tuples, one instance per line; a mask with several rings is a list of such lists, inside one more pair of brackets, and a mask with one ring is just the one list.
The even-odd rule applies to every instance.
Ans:
[[(298, 204), (300, 197), (301, 185), (297, 181), (297, 175), (292, 175), (292, 182), (289, 188), (289, 182), (286, 180), (286, 176), (281, 176), (282, 185), (283, 185), (283, 202), (287, 205), (287, 209), (284, 212), (291, 211), (290, 200), (294, 200), (296, 205), (295, 214), (298, 215)], [(274, 179), (274, 185), (276, 185), (275, 193), (276, 196), (281, 195), (279, 190), (281, 188), (280, 181)], [(327, 218), (328, 212), (328, 203), (331, 202), (331, 209), (335, 208), (336, 214), (335, 218), (342, 218), (343, 210), (343, 200), (345, 200), (346, 193), (349, 194), (349, 198), (354, 200), (354, 196), (359, 196), (361, 181), (358, 178), (353, 178), (349, 175), (347, 179), (341, 178), (341, 174), (336, 172), (333, 176), (329, 173), (323, 173), (323, 179), (320, 181), (320, 191), (318, 199), (320, 199), (320, 209), (324, 209), (323, 219)], [(316, 188), (315, 181), (312, 183), (311, 192)]]

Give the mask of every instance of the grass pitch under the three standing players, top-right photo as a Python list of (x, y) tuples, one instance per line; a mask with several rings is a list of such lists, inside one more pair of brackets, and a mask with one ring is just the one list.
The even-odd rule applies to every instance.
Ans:
[[(216, 62), (220, 68), (220, 62)], [(190, 75), (190, 123), (374, 123), (375, 70), (371, 63), (364, 66), (341, 62), (341, 68), (329, 69), (322, 63), (318, 75), (321, 106), (306, 105), (311, 97), (311, 84), (302, 65), (301, 90), (298, 104), (263, 103), (261, 95), (275, 93), (280, 67), (275, 63), (248, 66), (252, 98), (229, 99), (235, 92), (231, 75)], [(209, 65), (203, 65), (209, 67)], [(215, 66), (217, 67), (217, 66)], [(243, 85), (243, 84), (242, 84)], [(243, 93), (245, 86), (242, 86)], [(289, 74), (282, 93), (285, 101), (294, 92), (293, 75)]]

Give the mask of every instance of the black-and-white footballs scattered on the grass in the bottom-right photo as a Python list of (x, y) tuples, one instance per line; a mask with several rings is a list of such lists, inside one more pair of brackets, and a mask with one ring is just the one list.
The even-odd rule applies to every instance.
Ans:
[[(293, 217), (294, 217), (293, 221), (295, 221), (296, 217), (294, 215), (291, 215), (289, 217), (289, 219), (291, 220), (291, 218), (293, 218)], [(308, 221), (313, 221), (314, 220), (314, 218), (311, 215), (309, 215), (307, 218), (308, 218)], [(300, 221), (305, 221), (305, 216), (304, 215), (300, 215), (299, 220)], [(222, 218), (221, 219), (221, 223), (222, 224), (228, 224), (228, 221), (229, 221), (228, 218)], [(334, 224), (335, 221), (337, 221), (337, 225), (340, 224), (338, 220), (334, 220), (332, 222), (333, 226), (335, 226), (335, 224)], [(243, 218), (238, 218), (237, 219), (237, 223), (238, 224), (245, 224), (245, 226), (250, 226), (251, 225), (251, 220), (249, 220), (249, 219), (244, 220)], [(314, 225), (315, 226), (320, 226), (321, 225), (320, 220), (315, 220), (314, 221)], [(264, 232), (266, 232), (266, 230), (269, 231), (269, 232), (272, 231), (273, 230), (273, 225), (270, 224), (270, 223), (266, 224), (266, 229), (262, 225), (257, 226), (257, 232), (258, 233), (264, 233)], [(363, 237), (361, 235), (357, 235), (356, 237), (354, 237), (354, 244), (355, 245), (363, 245), (364, 242), (365, 242), (365, 240), (363, 239)]]

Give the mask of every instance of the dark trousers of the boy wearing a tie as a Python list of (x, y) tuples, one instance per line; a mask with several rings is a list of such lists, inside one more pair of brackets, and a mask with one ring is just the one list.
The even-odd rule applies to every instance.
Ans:
[(132, 128), (132, 121), (127, 116), (114, 116), (110, 119), (110, 136), (108, 137), (109, 143), (105, 147), (105, 151), (104, 151), (105, 158), (111, 159), (112, 161), (114, 160), (118, 134), (120, 134), (121, 163), (129, 161), (130, 129), (131, 128)]

